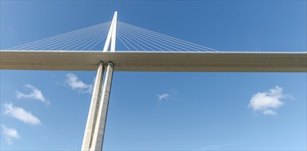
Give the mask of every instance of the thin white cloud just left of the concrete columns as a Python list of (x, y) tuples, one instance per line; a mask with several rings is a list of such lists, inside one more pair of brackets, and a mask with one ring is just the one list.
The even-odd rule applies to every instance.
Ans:
[(65, 84), (70, 86), (73, 90), (77, 91), (78, 93), (92, 93), (93, 91), (93, 84), (86, 84), (82, 82), (73, 73), (66, 74)]

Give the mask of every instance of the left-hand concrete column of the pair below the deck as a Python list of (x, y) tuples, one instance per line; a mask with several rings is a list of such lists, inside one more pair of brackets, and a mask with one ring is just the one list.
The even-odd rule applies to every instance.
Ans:
[(96, 119), (98, 115), (101, 88), (103, 85), (103, 71), (104, 71), (103, 62), (100, 62), (99, 67), (97, 69), (94, 91), (92, 94), (91, 105), (89, 106), (89, 115), (87, 117), (87, 123), (81, 147), (81, 150), (83, 151), (89, 150), (92, 143), (93, 134), (96, 126)]

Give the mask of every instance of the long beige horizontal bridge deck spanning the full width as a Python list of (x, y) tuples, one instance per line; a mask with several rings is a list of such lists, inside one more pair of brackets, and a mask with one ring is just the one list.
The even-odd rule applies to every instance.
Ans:
[(115, 71), (307, 72), (307, 53), (0, 51), (0, 69), (96, 71), (100, 61)]

